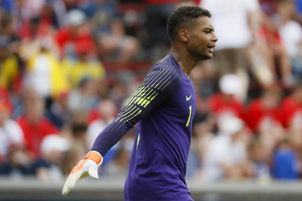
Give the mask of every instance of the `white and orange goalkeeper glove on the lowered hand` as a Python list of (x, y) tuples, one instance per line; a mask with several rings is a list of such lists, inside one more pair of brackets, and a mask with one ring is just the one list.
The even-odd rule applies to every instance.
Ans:
[(83, 160), (71, 170), (70, 175), (68, 176), (63, 190), (62, 195), (67, 195), (67, 193), (74, 189), (76, 182), (79, 179), (85, 177), (92, 177), (98, 179), (98, 167), (102, 164), (103, 157), (97, 151), (89, 151)]

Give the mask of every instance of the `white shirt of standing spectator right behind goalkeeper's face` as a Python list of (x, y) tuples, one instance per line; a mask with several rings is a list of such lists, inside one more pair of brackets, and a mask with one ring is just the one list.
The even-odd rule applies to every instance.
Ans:
[(243, 48), (251, 42), (248, 12), (258, 10), (257, 0), (202, 0), (200, 6), (210, 10), (215, 35), (215, 50)]

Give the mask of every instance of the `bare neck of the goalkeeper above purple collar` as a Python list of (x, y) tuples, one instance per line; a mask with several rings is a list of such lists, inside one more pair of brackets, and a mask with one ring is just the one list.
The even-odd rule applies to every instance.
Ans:
[(170, 52), (180, 65), (182, 72), (189, 77), (191, 71), (196, 67), (199, 60), (190, 55), (184, 48), (172, 46)]

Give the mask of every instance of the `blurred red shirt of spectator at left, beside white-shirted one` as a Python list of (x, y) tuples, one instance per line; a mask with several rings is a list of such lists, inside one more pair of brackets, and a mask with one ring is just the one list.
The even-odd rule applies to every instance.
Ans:
[(26, 116), (17, 119), (20, 124), (25, 138), (25, 144), (35, 158), (40, 156), (40, 145), (42, 139), (48, 134), (56, 134), (59, 130), (52, 122), (42, 117), (35, 125), (31, 124)]

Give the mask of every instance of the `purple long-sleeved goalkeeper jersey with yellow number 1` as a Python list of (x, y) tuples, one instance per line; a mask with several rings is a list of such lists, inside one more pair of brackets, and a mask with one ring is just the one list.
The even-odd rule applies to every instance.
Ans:
[(196, 95), (169, 53), (145, 75), (91, 150), (101, 155), (138, 122), (125, 201), (191, 201), (185, 181)]

